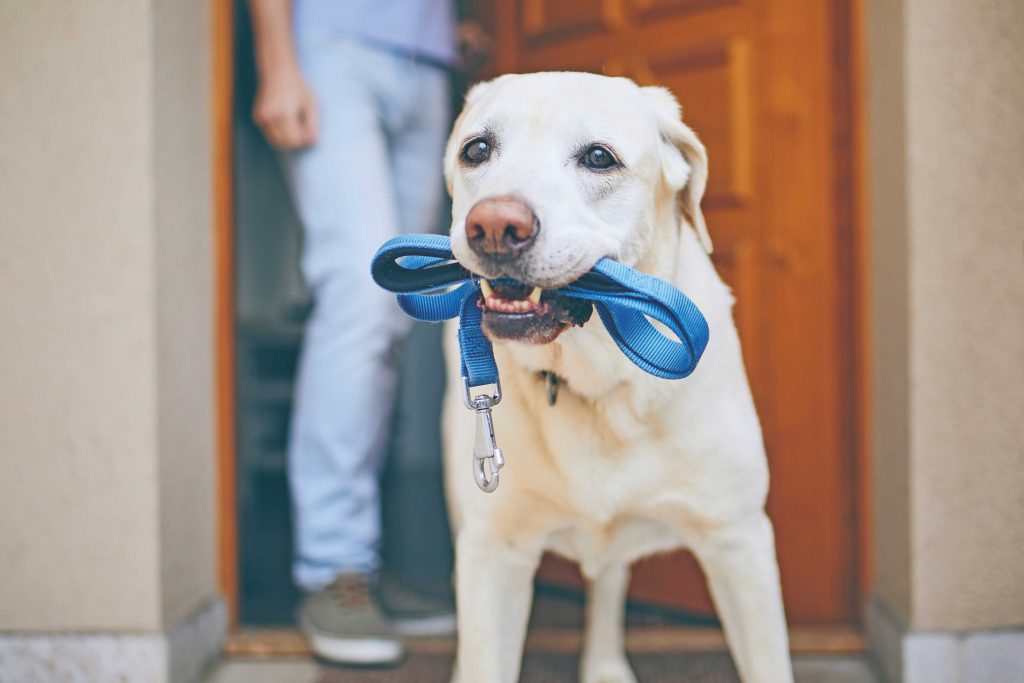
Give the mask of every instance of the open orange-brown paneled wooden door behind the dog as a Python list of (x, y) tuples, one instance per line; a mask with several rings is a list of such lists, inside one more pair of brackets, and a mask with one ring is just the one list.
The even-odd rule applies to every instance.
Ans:
[[(848, 7), (840, 0), (493, 0), (495, 72), (575, 70), (672, 89), (708, 147), (703, 209), (761, 415), (792, 624), (857, 621), (858, 390)], [(579, 581), (546, 560), (542, 580)], [(710, 612), (685, 553), (634, 599)]]

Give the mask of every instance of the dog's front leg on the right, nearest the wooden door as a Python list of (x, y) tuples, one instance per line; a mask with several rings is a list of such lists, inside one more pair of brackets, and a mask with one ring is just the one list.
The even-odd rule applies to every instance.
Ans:
[(743, 683), (792, 683), (771, 522), (763, 512), (693, 548)]

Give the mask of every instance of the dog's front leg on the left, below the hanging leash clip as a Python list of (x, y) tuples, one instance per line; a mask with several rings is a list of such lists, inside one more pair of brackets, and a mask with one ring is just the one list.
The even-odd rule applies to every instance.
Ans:
[(453, 683), (515, 683), (541, 548), (512, 549), (483, 524), (456, 539), (459, 645)]

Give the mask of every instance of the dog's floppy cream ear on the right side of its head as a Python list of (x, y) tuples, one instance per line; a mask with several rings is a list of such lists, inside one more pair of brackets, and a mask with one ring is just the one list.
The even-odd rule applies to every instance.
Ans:
[(683, 217), (696, 230), (701, 246), (710, 254), (711, 236), (700, 211), (700, 200), (708, 186), (708, 152), (696, 133), (683, 123), (679, 102), (667, 88), (648, 86), (640, 89), (654, 110), (662, 133), (665, 181), (677, 191)]

